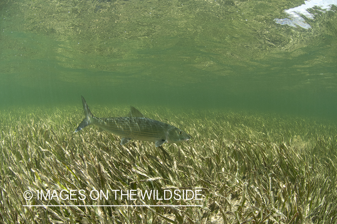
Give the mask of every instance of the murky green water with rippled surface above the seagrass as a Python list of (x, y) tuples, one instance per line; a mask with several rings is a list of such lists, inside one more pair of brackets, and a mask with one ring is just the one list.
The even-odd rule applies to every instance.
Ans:
[(303, 1), (1, 1), (0, 105), (235, 108), (335, 119), (337, 13)]

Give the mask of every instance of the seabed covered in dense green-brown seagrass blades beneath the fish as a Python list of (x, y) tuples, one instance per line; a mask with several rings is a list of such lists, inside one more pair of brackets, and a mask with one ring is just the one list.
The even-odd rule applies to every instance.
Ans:
[[(111, 117), (127, 109), (92, 111)], [(335, 124), (139, 109), (192, 138), (162, 147), (120, 145), (118, 136), (96, 127), (73, 133), (83, 119), (80, 106), (2, 110), (1, 222), (336, 223)], [(145, 190), (155, 197), (143, 197)], [(187, 196), (164, 200), (164, 192), (175, 190)]]

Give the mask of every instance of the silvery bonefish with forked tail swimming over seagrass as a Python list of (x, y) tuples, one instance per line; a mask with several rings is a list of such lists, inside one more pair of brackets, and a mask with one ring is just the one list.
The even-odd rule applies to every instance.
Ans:
[(179, 143), (191, 137), (184, 131), (170, 124), (144, 117), (136, 108), (130, 106), (130, 112), (125, 117), (99, 118), (92, 115), (84, 97), (82, 97), (85, 118), (76, 128), (81, 131), (90, 124), (98, 126), (98, 132), (107, 131), (122, 137), (121, 145), (131, 139), (155, 142), (156, 147), (167, 143)]

